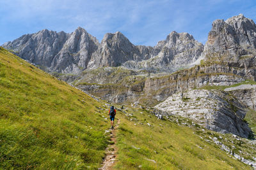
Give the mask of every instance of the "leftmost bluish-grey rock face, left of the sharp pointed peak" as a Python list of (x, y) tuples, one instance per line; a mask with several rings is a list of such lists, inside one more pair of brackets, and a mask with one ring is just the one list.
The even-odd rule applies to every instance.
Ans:
[(51, 67), (51, 61), (60, 52), (68, 39), (65, 32), (44, 29), (36, 34), (26, 34), (14, 41), (4, 43), (3, 47), (11, 49), (22, 59), (34, 64)]

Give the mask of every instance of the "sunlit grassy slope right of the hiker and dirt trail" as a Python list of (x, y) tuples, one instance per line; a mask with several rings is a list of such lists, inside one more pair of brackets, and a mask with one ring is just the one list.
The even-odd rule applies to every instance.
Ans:
[[(209, 134), (214, 134), (222, 136), (219, 140), (225, 143), (224, 139), (229, 140), (230, 134), (180, 126), (175, 119), (173, 122), (157, 120), (141, 109), (129, 109), (127, 115), (118, 113), (121, 124), (116, 169), (251, 169), (232, 159), (219, 146), (199, 137), (209, 139)], [(229, 141), (230, 145), (236, 145), (234, 142)]]

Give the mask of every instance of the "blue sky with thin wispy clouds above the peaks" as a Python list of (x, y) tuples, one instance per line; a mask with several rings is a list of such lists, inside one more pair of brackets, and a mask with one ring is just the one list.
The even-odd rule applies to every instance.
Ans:
[(156, 45), (172, 31), (202, 43), (212, 21), (243, 13), (256, 21), (255, 0), (0, 0), (0, 45), (42, 29), (83, 27), (99, 41), (122, 32), (135, 45)]

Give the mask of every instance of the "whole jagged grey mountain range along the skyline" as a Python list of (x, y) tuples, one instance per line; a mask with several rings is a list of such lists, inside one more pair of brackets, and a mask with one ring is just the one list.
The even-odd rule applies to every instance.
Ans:
[(132, 45), (121, 32), (108, 33), (99, 43), (78, 27), (71, 34), (47, 30), (27, 34), (4, 43), (3, 47), (51, 73), (78, 75), (85, 69), (102, 66), (170, 73), (188, 67), (197, 59), (253, 64), (255, 41), (255, 23), (241, 14), (226, 21), (215, 20), (205, 46), (190, 34), (175, 31), (154, 47)]

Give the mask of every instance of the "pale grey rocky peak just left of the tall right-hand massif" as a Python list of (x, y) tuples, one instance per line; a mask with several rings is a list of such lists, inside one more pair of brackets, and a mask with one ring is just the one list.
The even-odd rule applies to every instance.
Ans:
[(202, 54), (204, 45), (186, 32), (171, 32), (164, 41), (159, 41), (148, 55), (150, 59), (141, 62), (124, 63), (128, 68), (173, 72), (195, 62)]

